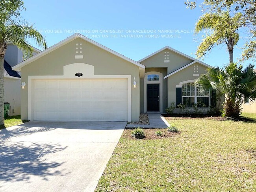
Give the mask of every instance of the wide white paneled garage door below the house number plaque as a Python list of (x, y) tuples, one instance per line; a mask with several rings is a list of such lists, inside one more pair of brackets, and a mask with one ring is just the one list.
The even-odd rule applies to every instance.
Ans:
[(34, 83), (34, 120), (128, 120), (127, 79), (51, 79)]

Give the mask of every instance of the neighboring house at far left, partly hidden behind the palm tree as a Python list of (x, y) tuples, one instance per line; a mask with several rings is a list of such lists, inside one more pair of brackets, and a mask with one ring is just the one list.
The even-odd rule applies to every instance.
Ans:
[[(41, 52), (34, 48), (33, 55)], [(22, 62), (22, 51), (13, 44), (7, 45), (6, 55), (4, 57), (4, 102), (10, 103), (10, 116), (20, 114), (20, 73), (11, 69), (11, 67)]]

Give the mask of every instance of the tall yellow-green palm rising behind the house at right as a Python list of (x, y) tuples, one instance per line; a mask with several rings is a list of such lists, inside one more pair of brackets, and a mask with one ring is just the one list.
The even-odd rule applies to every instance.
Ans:
[(220, 13), (206, 13), (202, 15), (196, 23), (195, 33), (204, 30), (211, 30), (197, 48), (196, 55), (198, 58), (204, 57), (207, 51), (219, 45), (226, 44), (229, 52), (229, 62), (233, 63), (234, 46), (239, 41), (238, 29), (241, 27), (242, 14), (236, 13), (234, 17), (230, 16), (229, 11)]

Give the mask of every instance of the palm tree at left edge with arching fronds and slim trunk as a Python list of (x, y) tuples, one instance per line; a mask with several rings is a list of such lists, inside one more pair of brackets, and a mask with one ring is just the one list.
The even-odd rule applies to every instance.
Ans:
[(4, 56), (8, 42), (15, 44), (23, 51), (23, 58), (27, 59), (32, 55), (33, 48), (26, 39), (35, 39), (37, 44), (44, 49), (47, 48), (46, 41), (32, 25), (28, 23), (11, 22), (0, 25), (0, 125), (4, 124)]

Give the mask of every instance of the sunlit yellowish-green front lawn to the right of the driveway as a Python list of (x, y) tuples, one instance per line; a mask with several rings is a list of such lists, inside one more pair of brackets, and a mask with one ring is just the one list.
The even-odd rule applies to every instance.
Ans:
[(121, 137), (96, 192), (256, 191), (255, 122), (166, 119), (180, 134)]

